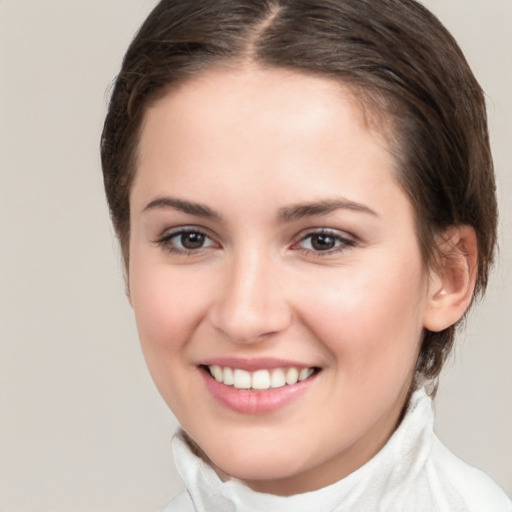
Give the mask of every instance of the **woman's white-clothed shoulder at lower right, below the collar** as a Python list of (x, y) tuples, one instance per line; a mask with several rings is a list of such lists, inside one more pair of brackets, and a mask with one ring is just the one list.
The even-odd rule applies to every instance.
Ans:
[(427, 465), (439, 510), (451, 510), (452, 504), (457, 503), (468, 512), (512, 512), (512, 501), (505, 492), (483, 471), (448, 450), (437, 437)]

